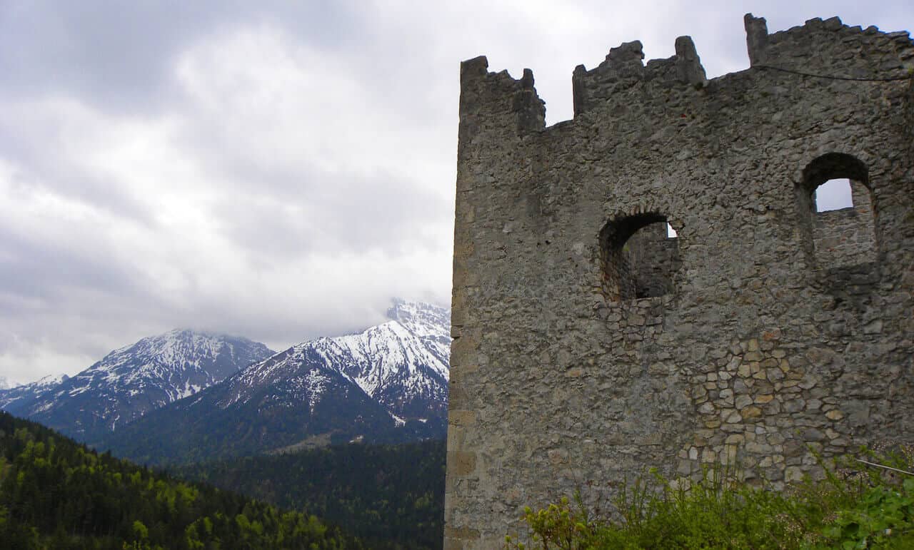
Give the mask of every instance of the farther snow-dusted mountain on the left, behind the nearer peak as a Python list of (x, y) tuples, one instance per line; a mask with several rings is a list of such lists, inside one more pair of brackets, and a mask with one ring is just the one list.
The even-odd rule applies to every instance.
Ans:
[(3, 408), (92, 442), (271, 354), (245, 338), (174, 330), (114, 350), (80, 374), (57, 384), (49, 380), (34, 388), (34, 397)]

